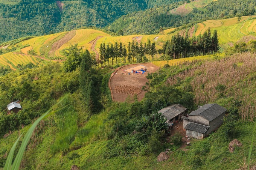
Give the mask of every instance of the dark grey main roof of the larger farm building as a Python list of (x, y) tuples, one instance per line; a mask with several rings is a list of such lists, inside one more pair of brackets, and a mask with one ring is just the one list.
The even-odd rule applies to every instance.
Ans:
[(200, 115), (204, 119), (212, 121), (216, 117), (220, 116), (222, 113), (227, 111), (226, 108), (221, 107), (218, 104), (205, 104), (202, 107), (198, 108), (195, 111), (192, 111), (189, 116), (195, 116), (195, 115)]

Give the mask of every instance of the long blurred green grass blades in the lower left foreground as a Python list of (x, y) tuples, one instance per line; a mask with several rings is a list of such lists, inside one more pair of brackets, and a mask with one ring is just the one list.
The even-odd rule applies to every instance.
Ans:
[[(25, 151), (25, 149), (26, 149), (27, 143), (29, 142), (29, 139), (30, 139), (30, 137), (31, 137), (31, 135), (32, 135), (32, 133), (33, 133), (35, 127), (37, 126), (37, 124), (38, 124), (42, 119), (44, 119), (44, 117), (45, 117), (48, 113), (50, 113), (50, 111), (51, 111), (53, 108), (55, 108), (59, 103), (61, 103), (61, 102), (63, 101), (63, 99), (66, 98), (66, 96), (67, 96), (67, 95), (65, 95), (62, 99), (60, 99), (58, 103), (56, 103), (55, 105), (53, 105), (53, 107), (51, 107), (49, 110), (47, 110), (46, 113), (44, 113), (42, 116), (40, 116), (40, 117), (30, 126), (29, 130), (27, 131), (26, 135), (25, 135), (24, 138), (23, 138), (23, 141), (22, 141), (21, 146), (20, 146), (20, 149), (19, 149), (19, 151), (18, 151), (18, 153), (17, 153), (17, 155), (16, 155), (16, 158), (15, 158), (13, 164), (11, 165), (12, 157), (13, 157), (14, 150), (15, 150), (15, 146), (17, 145), (18, 140), (19, 140), (20, 137), (17, 139), (17, 141), (15, 142), (14, 146), (12, 146), (11, 151), (9, 152), (9, 155), (10, 155), (10, 156), (8, 155), (8, 158), (9, 158), (9, 159), (7, 159), (6, 162), (5, 162), (5, 168), (4, 168), (4, 170), (10, 170), (10, 169), (11, 169), (11, 170), (18, 170), (18, 169), (19, 169), (20, 163), (21, 163), (21, 159), (22, 159), (22, 156), (23, 156), (23, 153), (24, 153), (24, 151)], [(63, 107), (63, 108), (64, 108), (64, 107)], [(61, 109), (62, 109), (62, 108), (61, 108)], [(60, 110), (61, 110), (61, 109), (60, 109)], [(59, 111), (59, 110), (57, 110), (57, 111)], [(54, 112), (56, 112), (56, 111), (54, 111)]]

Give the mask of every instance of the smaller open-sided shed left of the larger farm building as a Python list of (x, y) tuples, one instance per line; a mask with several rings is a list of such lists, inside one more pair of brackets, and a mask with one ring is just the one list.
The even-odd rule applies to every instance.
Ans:
[(173, 120), (180, 120), (186, 110), (187, 108), (181, 104), (173, 104), (159, 110), (158, 113), (162, 113), (167, 119), (167, 123), (171, 123)]

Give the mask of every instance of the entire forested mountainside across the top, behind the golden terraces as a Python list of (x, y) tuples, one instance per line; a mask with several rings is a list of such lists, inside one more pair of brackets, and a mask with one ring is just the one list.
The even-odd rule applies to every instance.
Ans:
[[(0, 42), (68, 31), (81, 27), (105, 27), (108, 31), (127, 34), (158, 33), (160, 27), (192, 25), (209, 18), (254, 15), (255, 2), (243, 0), (229, 4), (227, 0), (194, 8), (185, 16), (170, 11), (189, 1), (174, 0), (20, 0), (0, 3)], [(127, 15), (128, 14), (128, 15)], [(119, 19), (118, 19), (119, 18)]]

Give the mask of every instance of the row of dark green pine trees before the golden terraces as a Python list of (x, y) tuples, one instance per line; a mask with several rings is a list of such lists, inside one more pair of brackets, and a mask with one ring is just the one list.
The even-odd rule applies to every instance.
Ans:
[[(97, 60), (98, 65), (106, 65), (106, 63), (112, 64), (115, 62), (126, 63), (133, 62), (134, 59), (137, 63), (147, 62), (148, 60), (159, 59), (179, 59), (192, 56), (201, 56), (207, 54), (216, 53), (219, 50), (219, 41), (217, 31), (214, 30), (213, 34), (210, 28), (203, 33), (203, 35), (193, 36), (189, 38), (186, 34), (185, 37), (181, 36), (179, 33), (172, 36), (171, 41), (166, 41), (163, 48), (156, 49), (155, 43), (151, 43), (148, 39), (147, 43), (132, 42), (128, 43), (128, 46), (120, 42), (119, 44), (115, 42), (114, 44), (105, 43), (100, 45), (99, 48), (99, 58)], [(164, 55), (162, 55), (164, 54)], [(162, 55), (162, 57), (161, 57)]]

